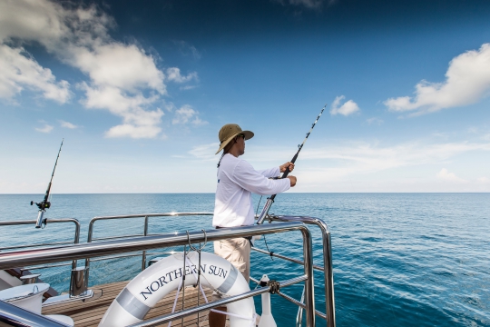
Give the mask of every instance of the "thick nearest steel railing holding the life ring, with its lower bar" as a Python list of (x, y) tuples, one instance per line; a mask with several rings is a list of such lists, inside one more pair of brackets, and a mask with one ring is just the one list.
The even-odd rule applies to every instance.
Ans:
[[(306, 321), (309, 327), (315, 326), (315, 294), (314, 294), (314, 276), (313, 276), (313, 257), (312, 257), (312, 242), (311, 235), (309, 233), (308, 227), (300, 222), (289, 222), (289, 223), (273, 223), (273, 224), (262, 224), (254, 226), (227, 228), (206, 231), (206, 234), (197, 233), (172, 233), (159, 236), (146, 236), (146, 237), (135, 237), (124, 240), (112, 240), (103, 241), (99, 243), (83, 243), (83, 244), (73, 244), (66, 246), (54, 246), (51, 248), (44, 249), (34, 249), (28, 253), (19, 251), (12, 253), (0, 253), (0, 269), (6, 269), (18, 265), (34, 265), (34, 264), (45, 264), (45, 263), (57, 263), (64, 260), (79, 260), (79, 259), (89, 259), (93, 257), (103, 257), (104, 255), (117, 254), (117, 253), (128, 253), (134, 251), (145, 251), (149, 249), (159, 248), (159, 247), (170, 247), (179, 246), (187, 243), (203, 243), (207, 238), (207, 241), (219, 241), (222, 239), (254, 236), (270, 233), (285, 233), (290, 231), (300, 231), (303, 237), (303, 263), (304, 263), (304, 275), (299, 276), (296, 280), (284, 281), (285, 285), (292, 284), (294, 282), (305, 282), (305, 312)], [(303, 279), (304, 278), (304, 279)], [(267, 289), (258, 289), (260, 292), (268, 292)], [(242, 296), (253, 296), (255, 293), (246, 293)], [(222, 301), (238, 301), (237, 299), (223, 299)], [(221, 302), (212, 302), (195, 307), (190, 310), (186, 310), (178, 313), (171, 313), (171, 315), (166, 315), (157, 318), (159, 321), (149, 322), (150, 324), (142, 325), (153, 325), (156, 323), (161, 323), (162, 321), (167, 322), (169, 319), (178, 319), (183, 316), (190, 315), (194, 312), (202, 312), (210, 309), (211, 307), (220, 306)], [(146, 323), (146, 322), (144, 322)]]

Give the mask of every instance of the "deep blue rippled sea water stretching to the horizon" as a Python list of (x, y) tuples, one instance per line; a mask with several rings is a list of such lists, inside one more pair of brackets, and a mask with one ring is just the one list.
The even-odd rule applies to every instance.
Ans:
[[(35, 219), (31, 200), (40, 201), (42, 195), (0, 195), (0, 220)], [(212, 211), (213, 201), (212, 193), (64, 194), (53, 196), (46, 216), (78, 219), (85, 242), (93, 216)], [(338, 326), (490, 326), (489, 205), (490, 193), (285, 193), (270, 212), (315, 216), (328, 223)], [(95, 236), (142, 233), (142, 226), (142, 220), (98, 222)], [(201, 228), (211, 228), (211, 217), (153, 219), (150, 224), (151, 233)], [(42, 231), (0, 227), (0, 246), (42, 238), (71, 240), (72, 231), (66, 224)], [(315, 262), (322, 264), (321, 237), (315, 228), (311, 231)], [(267, 243), (271, 251), (302, 257), (298, 232), (267, 236)], [(256, 246), (265, 249), (263, 239)], [(212, 251), (212, 244), (206, 250)], [(93, 263), (90, 283), (129, 280), (140, 267), (140, 258)], [(267, 272), (285, 280), (301, 271), (295, 263), (252, 253), (256, 278)], [(42, 273), (45, 282), (66, 291), (69, 269)], [(317, 309), (325, 312), (322, 281), (316, 272)], [(293, 286), (284, 292), (299, 299), (301, 290)], [(294, 325), (297, 307), (278, 296), (272, 299), (278, 325)], [(318, 319), (317, 325), (325, 322)]]

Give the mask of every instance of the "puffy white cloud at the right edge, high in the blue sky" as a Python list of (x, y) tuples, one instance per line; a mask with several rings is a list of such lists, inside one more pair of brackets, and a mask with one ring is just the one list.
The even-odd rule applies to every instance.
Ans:
[(459, 54), (449, 63), (444, 83), (422, 81), (414, 97), (401, 96), (384, 102), (390, 111), (416, 114), (474, 104), (490, 92), (490, 44)]

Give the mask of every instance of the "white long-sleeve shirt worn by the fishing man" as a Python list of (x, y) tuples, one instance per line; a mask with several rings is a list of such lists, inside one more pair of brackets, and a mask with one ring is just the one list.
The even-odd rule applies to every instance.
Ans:
[(253, 224), (251, 193), (270, 195), (289, 190), (289, 178), (269, 179), (279, 176), (279, 173), (279, 167), (256, 171), (245, 160), (225, 154), (218, 168), (212, 225), (237, 227)]

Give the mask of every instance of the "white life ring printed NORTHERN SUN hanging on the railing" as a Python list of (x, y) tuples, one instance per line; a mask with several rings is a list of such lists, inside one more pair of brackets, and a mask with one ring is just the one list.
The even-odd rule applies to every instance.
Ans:
[[(198, 253), (187, 254), (185, 285), (197, 283)], [(177, 253), (140, 272), (117, 295), (100, 322), (102, 327), (120, 327), (142, 322), (147, 312), (171, 291), (179, 288), (182, 281), (183, 255)], [(228, 261), (212, 253), (201, 253), (201, 284), (226, 295), (238, 295), (250, 291), (249, 283)], [(227, 304), (231, 327), (255, 325), (253, 298)], [(243, 317), (243, 318), (240, 318)], [(244, 319), (247, 318), (247, 319)], [(253, 324), (250, 323), (253, 320)]]

